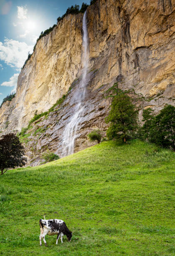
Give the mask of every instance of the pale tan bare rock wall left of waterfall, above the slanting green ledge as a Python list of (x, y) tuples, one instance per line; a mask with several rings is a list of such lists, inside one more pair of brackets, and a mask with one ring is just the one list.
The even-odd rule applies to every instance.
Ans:
[[(67, 92), (81, 69), (81, 30), (82, 15), (69, 15), (37, 42), (32, 57), (18, 77), (6, 132), (20, 131), (36, 110), (38, 113), (48, 110)], [(4, 128), (1, 120), (0, 125)]]

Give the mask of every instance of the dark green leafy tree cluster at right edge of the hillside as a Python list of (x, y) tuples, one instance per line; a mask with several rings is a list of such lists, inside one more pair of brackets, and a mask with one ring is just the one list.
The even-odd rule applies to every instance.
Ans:
[(166, 105), (158, 115), (143, 111), (143, 131), (148, 141), (175, 150), (175, 107)]

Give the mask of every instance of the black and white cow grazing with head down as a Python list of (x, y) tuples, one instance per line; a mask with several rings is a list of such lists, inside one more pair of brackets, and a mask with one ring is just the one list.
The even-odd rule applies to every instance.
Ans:
[(43, 239), (45, 246), (47, 246), (47, 243), (45, 241), (45, 235), (53, 236), (57, 235), (57, 241), (56, 244), (58, 243), (58, 239), (61, 239), (62, 243), (62, 236), (66, 235), (67, 240), (70, 242), (72, 238), (72, 231), (70, 231), (65, 222), (63, 220), (58, 220), (58, 219), (52, 219), (52, 220), (42, 220), (40, 219), (40, 246), (42, 245), (41, 243), (41, 238)]

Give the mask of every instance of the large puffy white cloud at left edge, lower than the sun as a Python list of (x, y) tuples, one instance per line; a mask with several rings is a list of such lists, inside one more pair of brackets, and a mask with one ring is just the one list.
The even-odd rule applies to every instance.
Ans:
[(4, 43), (0, 42), (0, 60), (5, 61), (10, 67), (20, 70), (28, 57), (28, 52), (32, 52), (32, 49), (33, 46), (25, 42), (5, 38)]

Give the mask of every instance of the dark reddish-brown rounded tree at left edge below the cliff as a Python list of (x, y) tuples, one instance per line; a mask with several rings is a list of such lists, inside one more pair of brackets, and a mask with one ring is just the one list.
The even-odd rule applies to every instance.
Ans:
[(24, 147), (14, 133), (2, 135), (0, 140), (0, 171), (1, 175), (7, 172), (8, 168), (22, 167), (27, 158), (24, 157)]

